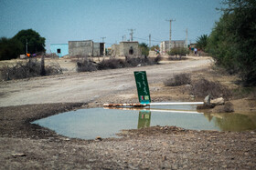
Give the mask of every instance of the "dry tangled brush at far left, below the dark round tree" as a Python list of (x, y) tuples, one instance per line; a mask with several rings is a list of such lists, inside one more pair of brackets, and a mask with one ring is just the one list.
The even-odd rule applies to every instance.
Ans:
[(42, 66), (43, 63), (38, 62), (36, 58), (30, 58), (27, 62), (18, 62), (12, 67), (4, 66), (0, 69), (2, 79), (13, 80), (41, 75), (62, 74), (59, 64), (51, 64), (44, 67), (44, 65)]

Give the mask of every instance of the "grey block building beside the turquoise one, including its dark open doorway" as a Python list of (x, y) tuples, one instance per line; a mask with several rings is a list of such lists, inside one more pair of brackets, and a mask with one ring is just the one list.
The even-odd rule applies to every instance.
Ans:
[(93, 43), (92, 40), (69, 41), (69, 56), (88, 55), (100, 56), (104, 54), (104, 43)]

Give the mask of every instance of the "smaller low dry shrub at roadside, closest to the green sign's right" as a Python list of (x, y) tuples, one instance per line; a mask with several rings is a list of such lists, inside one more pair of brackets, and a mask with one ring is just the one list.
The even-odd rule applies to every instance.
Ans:
[(165, 86), (187, 85), (190, 83), (191, 83), (191, 76), (188, 74), (174, 75), (174, 77), (167, 79), (164, 82)]

